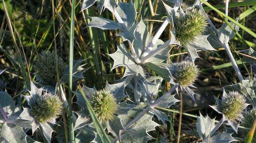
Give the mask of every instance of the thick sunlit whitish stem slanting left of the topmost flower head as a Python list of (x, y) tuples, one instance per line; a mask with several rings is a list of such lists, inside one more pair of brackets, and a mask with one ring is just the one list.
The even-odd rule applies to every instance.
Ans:
[(166, 26), (168, 25), (168, 23), (169, 23), (169, 20), (168, 18), (166, 18), (165, 21), (162, 23), (161, 27), (158, 29), (158, 31), (154, 35), (154, 38), (152, 39), (152, 41), (147, 45), (146, 50), (143, 52), (141, 57), (146, 57), (148, 54), (150, 54), (150, 52), (154, 47), (154, 44), (157, 42), (162, 32), (166, 29)]

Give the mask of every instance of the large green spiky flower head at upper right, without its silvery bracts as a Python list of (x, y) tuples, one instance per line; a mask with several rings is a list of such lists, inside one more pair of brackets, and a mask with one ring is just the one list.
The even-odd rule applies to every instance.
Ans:
[(192, 9), (177, 20), (175, 34), (179, 41), (189, 43), (204, 32), (207, 26), (207, 17), (202, 11)]

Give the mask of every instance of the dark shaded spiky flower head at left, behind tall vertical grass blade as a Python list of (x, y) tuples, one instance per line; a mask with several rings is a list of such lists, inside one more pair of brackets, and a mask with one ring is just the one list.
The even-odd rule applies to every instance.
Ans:
[[(64, 61), (61, 57), (58, 58), (58, 67), (59, 67), (59, 76), (60, 78), (64, 74), (66, 68)], [(57, 72), (56, 72), (56, 61), (53, 52), (42, 51), (41, 54), (38, 54), (38, 58), (35, 61), (34, 65), (35, 71), (39, 75), (39, 78), (46, 84), (55, 86), (57, 83)]]

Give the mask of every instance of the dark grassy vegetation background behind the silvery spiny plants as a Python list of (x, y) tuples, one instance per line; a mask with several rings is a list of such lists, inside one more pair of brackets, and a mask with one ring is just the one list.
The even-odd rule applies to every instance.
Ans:
[[(8, 82), (6, 89), (17, 100), (21, 97), (20, 91), (24, 89), (25, 76), (30, 75), (32, 80), (35, 79), (33, 65), (37, 54), (42, 50), (53, 51), (54, 39), (56, 39), (58, 55), (68, 63), (72, 2), (71, 0), (53, 0), (53, 5), (51, 0), (4, 1), (13, 29), (10, 30), (8, 27), (7, 14), (4, 12), (2, 1), (0, 1), (0, 69), (7, 68), (1, 78)], [(130, 0), (119, 1), (129, 2)], [(224, 11), (226, 0), (209, 0), (208, 2), (220, 11)], [(108, 56), (117, 50), (121, 39), (115, 36), (117, 34), (115, 30), (87, 27), (90, 17), (98, 16), (99, 13), (95, 6), (81, 11), (82, 3), (83, 0), (78, 0), (75, 8), (74, 59), (85, 59), (84, 64), (86, 64), (87, 71), (84, 75), (85, 79), (73, 86), (77, 87), (80, 82), (83, 82), (88, 87), (96, 86), (97, 89), (101, 89), (105, 86), (106, 81), (115, 83), (124, 74), (123, 67), (111, 71), (113, 60)], [(142, 19), (151, 35), (154, 35), (166, 17), (166, 15), (158, 14), (164, 10), (161, 0), (133, 0), (133, 3), (138, 11), (137, 20)], [(52, 7), (54, 7), (54, 12)], [(242, 25), (256, 32), (256, 0), (230, 0), (229, 7), (228, 13), (231, 18), (239, 18)], [(204, 6), (204, 8), (211, 21), (219, 28), (224, 23), (224, 19), (210, 7)], [(108, 10), (102, 12), (101, 17), (114, 19)], [(254, 38), (244, 30), (240, 30), (239, 34), (241, 37), (236, 36), (230, 41), (230, 49), (242, 75), (253, 78), (256, 76), (256, 58), (239, 51), (246, 50), (250, 46), (256, 50), (253, 47)], [(15, 42), (12, 40), (12, 36), (14, 36)], [(161, 39), (169, 39), (169, 36), (169, 30), (166, 29)], [(217, 116), (216, 119), (220, 119), (221, 114), (216, 114), (208, 105), (215, 104), (214, 96), (219, 97), (222, 94), (221, 91), (218, 91), (219, 88), (239, 82), (225, 49), (217, 50), (199, 52), (201, 58), (195, 62), (201, 70), (196, 82), (197, 88), (194, 91), (198, 94), (196, 96), (197, 104), (192, 102), (189, 97), (184, 97), (186, 102), (184, 102), (182, 130), (195, 128), (196, 115), (199, 115), (199, 111), (203, 115), (208, 114), (211, 118)], [(25, 75), (22, 74), (19, 56), (25, 66)], [(184, 49), (172, 48), (167, 62), (176, 63), (187, 56)], [(242, 61), (243, 57), (250, 60)], [(152, 73), (155, 75), (153, 71)], [(168, 89), (168, 84), (162, 85), (162, 91)], [(21, 103), (23, 104), (25, 101)], [(169, 139), (174, 140), (178, 125), (178, 111), (167, 110), (166, 112), (168, 112), (170, 122), (167, 126), (156, 127), (156, 131), (152, 131), (151, 135), (156, 139), (161, 139), (162, 135), (169, 135)], [(189, 134), (182, 134), (181, 137), (182, 142), (196, 142), (198, 139)]]

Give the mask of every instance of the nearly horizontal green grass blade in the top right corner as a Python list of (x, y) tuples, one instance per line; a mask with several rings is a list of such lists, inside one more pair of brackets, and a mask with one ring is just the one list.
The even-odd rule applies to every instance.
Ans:
[[(241, 1), (241, 2), (235, 2), (235, 3), (229, 3), (229, 7), (245, 7), (245, 6), (250, 6), (250, 5), (256, 5), (255, 0), (246, 0), (246, 1)], [(219, 4), (214, 6), (217, 9), (225, 8), (225, 4)], [(205, 11), (210, 11), (211, 7), (203, 7)]]

